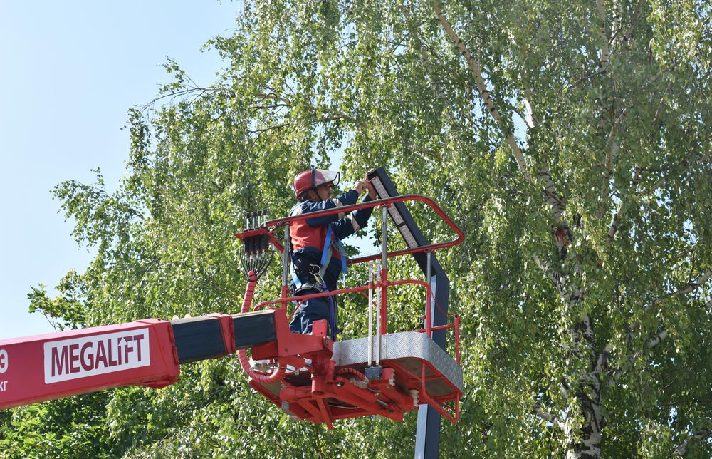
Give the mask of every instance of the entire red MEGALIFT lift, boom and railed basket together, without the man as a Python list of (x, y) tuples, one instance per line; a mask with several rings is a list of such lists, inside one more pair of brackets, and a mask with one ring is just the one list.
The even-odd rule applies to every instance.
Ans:
[[(439, 244), (424, 244), (423, 239), (417, 244), (409, 243), (407, 249), (387, 252), (387, 212), (396, 221), (394, 213), (406, 214), (404, 202), (422, 202), (431, 207), (451, 227), (456, 238)], [(375, 277), (365, 286), (290, 296), (286, 274), (290, 264), (288, 225), (300, 218), (368, 206), (380, 207), (383, 212), (382, 254), (361, 257), (352, 263), (380, 259), (382, 267), (376, 270)], [(284, 243), (275, 236), (279, 228), (285, 230)], [(403, 234), (404, 228), (398, 229)], [(454, 324), (444, 324), (444, 319), (434, 323), (435, 292), (431, 279), (392, 281), (387, 277), (390, 257), (414, 254), (420, 264), (422, 259), (432, 264), (434, 251), (452, 247), (464, 239), (459, 228), (434, 202), (417, 195), (393, 196), (270, 222), (261, 222), (258, 217), (256, 227), (237, 237), (244, 242), (243, 265), (248, 274), (240, 314), (210, 314), (172, 321), (145, 319), (0, 340), (0, 409), (120, 386), (162, 388), (178, 380), (182, 363), (237, 352), (251, 386), (294, 418), (326, 423), (330, 428), (341, 418), (376, 414), (401, 421), (403, 413), (427, 403), (439, 415), (458, 420), (462, 395), (459, 318), (455, 317)], [(266, 260), (269, 245), (283, 254), (282, 294), (279, 299), (262, 301), (253, 307), (258, 277), (269, 262)], [(424, 329), (387, 333), (387, 291), (404, 284), (424, 288)], [(326, 334), (326, 321), (316, 321), (313, 334), (293, 334), (289, 330), (289, 305), (313, 296), (354, 293), (369, 298), (369, 309), (373, 308), (377, 317), (375, 334), (369, 327), (367, 337), (334, 342)], [(444, 334), (448, 329), (455, 332), (455, 359), (444, 351), (444, 338), (434, 341), (434, 334)], [(267, 365), (260, 370), (252, 368), (247, 349), (253, 359), (266, 361)]]

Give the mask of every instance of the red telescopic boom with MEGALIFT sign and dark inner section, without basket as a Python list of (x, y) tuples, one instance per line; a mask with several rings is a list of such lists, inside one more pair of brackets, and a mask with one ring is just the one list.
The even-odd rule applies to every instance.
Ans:
[(120, 386), (162, 388), (179, 364), (275, 339), (273, 311), (145, 319), (0, 340), (0, 410)]

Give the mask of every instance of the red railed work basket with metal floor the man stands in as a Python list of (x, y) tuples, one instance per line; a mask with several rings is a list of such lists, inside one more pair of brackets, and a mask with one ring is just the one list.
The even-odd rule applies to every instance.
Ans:
[[(275, 315), (278, 322), (284, 321), (283, 325), (276, 324), (277, 338), (274, 343), (251, 349), (252, 359), (258, 361), (258, 365), (248, 363), (245, 351), (240, 351), (241, 362), (250, 377), (250, 385), (293, 418), (325, 423), (333, 428), (333, 423), (339, 419), (361, 416), (378, 415), (402, 421), (404, 413), (419, 411), (421, 406), (427, 405), (450, 421), (456, 422), (459, 419), (459, 400), (463, 391), (462, 368), (459, 364), (459, 317), (446, 314), (447, 296), (443, 296), (442, 292), (448, 292), (447, 279), (434, 259), (434, 252), (459, 244), (464, 234), (429, 198), (419, 195), (389, 196), (385, 186), (387, 183), (383, 179), (387, 179), (384, 172), (372, 179), (379, 197), (385, 195), (382, 199), (271, 221), (261, 221), (263, 213), (257, 213), (251, 215), (257, 216), (256, 225), (236, 234), (244, 243), (244, 268), (248, 278), (252, 279), (248, 283), (242, 311), (273, 309), (278, 312)], [(426, 208), (429, 207), (452, 230), (455, 238), (436, 244), (424, 242), (422, 233), (412, 223), (412, 217), (405, 207), (407, 202), (422, 203)], [(298, 220), (348, 213), (365, 207), (382, 210), (382, 250), (380, 254), (353, 259), (350, 264), (368, 262), (369, 283), (334, 292), (289, 296), (290, 225)], [(396, 225), (407, 248), (388, 251), (389, 218)], [(276, 230), (280, 228), (284, 232), (282, 240), (276, 236)], [(251, 292), (260, 277), (260, 274), (255, 273), (260, 269), (266, 270), (267, 263), (263, 260), (269, 257), (270, 245), (282, 252), (282, 296), (253, 307)], [(387, 260), (410, 254), (416, 257), (426, 279), (388, 279)], [(436, 294), (437, 276), (444, 280), (439, 295)], [(420, 306), (424, 328), (387, 333), (389, 307), (394, 306), (389, 304), (389, 289), (405, 284), (424, 291)], [(340, 297), (349, 294), (367, 298), (368, 336), (335, 341), (326, 334), (326, 321), (314, 323), (313, 335), (288, 331), (288, 310), (294, 310), (294, 306), (319, 296)], [(418, 305), (409, 304), (406, 309), (417, 311)], [(375, 320), (372, 312), (375, 312)], [(438, 321), (434, 321), (435, 314), (439, 314)], [(284, 319), (279, 319), (281, 317)], [(445, 323), (447, 319), (451, 321)], [(445, 350), (446, 331), (451, 331), (454, 336), (451, 344), (454, 356)], [(311, 345), (307, 345), (308, 341)]]

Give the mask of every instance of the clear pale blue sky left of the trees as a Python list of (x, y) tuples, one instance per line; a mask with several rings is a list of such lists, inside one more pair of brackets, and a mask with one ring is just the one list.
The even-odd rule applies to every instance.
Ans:
[[(207, 85), (222, 64), (201, 46), (234, 27), (240, 2), (0, 0), (0, 339), (53, 331), (27, 293), (50, 289), (90, 253), (51, 189), (124, 175), (127, 110), (169, 81), (177, 61)], [(52, 292), (50, 290), (50, 292)], [(52, 292), (53, 293), (53, 292)]]

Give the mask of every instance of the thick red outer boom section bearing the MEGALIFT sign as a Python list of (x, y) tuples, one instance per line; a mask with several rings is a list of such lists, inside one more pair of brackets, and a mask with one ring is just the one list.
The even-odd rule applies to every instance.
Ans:
[(161, 388), (179, 366), (168, 321), (145, 319), (0, 341), (0, 409), (119, 386)]

